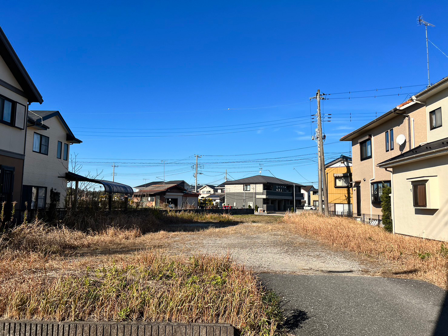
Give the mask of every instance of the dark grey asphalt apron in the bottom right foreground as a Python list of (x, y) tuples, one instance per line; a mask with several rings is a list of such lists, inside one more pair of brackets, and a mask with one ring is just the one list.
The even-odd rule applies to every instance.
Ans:
[(294, 335), (448, 335), (448, 298), (418, 280), (261, 273)]

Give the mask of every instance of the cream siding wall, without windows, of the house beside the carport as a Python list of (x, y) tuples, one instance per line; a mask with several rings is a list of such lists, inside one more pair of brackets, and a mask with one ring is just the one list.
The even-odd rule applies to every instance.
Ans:
[[(59, 207), (64, 206), (65, 195), (67, 194), (67, 182), (65, 179), (59, 178), (68, 172), (70, 161), (70, 144), (65, 139), (67, 131), (58, 117), (52, 117), (44, 124), (50, 129), (38, 130), (28, 127), (26, 135), (26, 155), (25, 168), (23, 172), (23, 184), (47, 187), (47, 204), (50, 202), (50, 190), (53, 188), (55, 192), (60, 193)], [(34, 132), (49, 137), (48, 155), (33, 152)], [(62, 155), (58, 159), (57, 142), (62, 142)], [(68, 160), (64, 160), (64, 143), (69, 144)]]

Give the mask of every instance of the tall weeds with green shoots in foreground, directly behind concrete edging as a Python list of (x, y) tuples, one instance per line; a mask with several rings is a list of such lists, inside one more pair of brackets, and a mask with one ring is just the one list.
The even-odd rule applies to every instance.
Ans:
[(231, 323), (263, 336), (282, 322), (278, 299), (229, 257), (148, 251), (79, 276), (23, 276), (0, 286), (0, 298), (6, 319)]

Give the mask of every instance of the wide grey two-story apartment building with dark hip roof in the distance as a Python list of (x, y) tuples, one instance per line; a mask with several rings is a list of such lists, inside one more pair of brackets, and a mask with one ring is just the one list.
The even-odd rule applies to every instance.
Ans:
[(263, 211), (287, 211), (304, 200), (301, 184), (276, 177), (255, 175), (235, 181), (226, 181), (225, 205), (254, 208)]

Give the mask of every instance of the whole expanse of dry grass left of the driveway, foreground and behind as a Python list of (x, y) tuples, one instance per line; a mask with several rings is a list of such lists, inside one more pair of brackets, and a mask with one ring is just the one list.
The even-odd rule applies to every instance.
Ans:
[(114, 246), (146, 239), (140, 235), (138, 229), (113, 227), (83, 233), (40, 221), (4, 233), (0, 318), (218, 322), (251, 336), (281, 332), (278, 298), (228, 256), (124, 254), (122, 248), (118, 256), (108, 254)]

